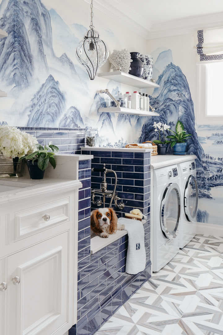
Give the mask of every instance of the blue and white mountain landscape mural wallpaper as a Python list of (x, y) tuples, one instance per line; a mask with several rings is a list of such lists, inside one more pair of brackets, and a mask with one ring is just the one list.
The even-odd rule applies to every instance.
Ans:
[[(223, 125), (196, 127), (190, 88), (173, 62), (172, 51), (159, 48), (152, 53), (153, 78), (160, 87), (154, 89), (150, 102), (159, 117), (98, 113), (109, 98), (97, 93), (102, 87), (92, 84), (75, 57), (76, 46), (88, 29), (75, 22), (67, 24), (44, 3), (49, 1), (0, 3), (0, 28), (8, 32), (7, 38), (0, 39), (0, 88), (8, 93), (1, 99), (0, 121), (15, 126), (91, 127), (98, 129), (100, 145), (123, 147), (127, 141), (157, 138), (154, 121), (174, 128), (180, 119), (193, 135), (188, 153), (198, 157), (198, 220), (222, 224)], [(103, 33), (105, 41), (117, 42), (111, 31)], [(109, 81), (107, 88), (115, 94), (120, 84)]]

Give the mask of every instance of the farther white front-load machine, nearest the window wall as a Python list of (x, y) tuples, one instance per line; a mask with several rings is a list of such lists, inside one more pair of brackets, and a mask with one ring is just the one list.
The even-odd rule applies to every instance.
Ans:
[(181, 180), (182, 211), (179, 247), (183, 248), (197, 233), (198, 184), (195, 160), (178, 164)]

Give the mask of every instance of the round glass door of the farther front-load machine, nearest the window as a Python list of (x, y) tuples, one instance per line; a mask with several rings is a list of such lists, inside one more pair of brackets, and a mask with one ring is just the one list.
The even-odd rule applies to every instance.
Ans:
[(196, 177), (190, 175), (184, 191), (184, 210), (188, 221), (194, 221), (198, 209), (198, 183)]

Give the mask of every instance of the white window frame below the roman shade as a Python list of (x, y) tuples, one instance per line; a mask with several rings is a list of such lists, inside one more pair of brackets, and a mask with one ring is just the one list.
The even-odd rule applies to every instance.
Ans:
[[(213, 61), (212, 61), (213, 62)], [(216, 62), (222, 62), (216, 61)], [(223, 124), (223, 115), (207, 115), (207, 65), (210, 62), (197, 63), (198, 113), (197, 124)]]

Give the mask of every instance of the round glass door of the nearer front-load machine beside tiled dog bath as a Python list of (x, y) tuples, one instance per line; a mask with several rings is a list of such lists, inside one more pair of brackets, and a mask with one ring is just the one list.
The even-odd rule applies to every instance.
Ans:
[(173, 240), (177, 236), (181, 214), (181, 197), (177, 184), (169, 184), (162, 196), (160, 224), (163, 235)]

